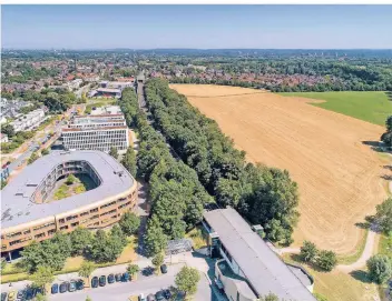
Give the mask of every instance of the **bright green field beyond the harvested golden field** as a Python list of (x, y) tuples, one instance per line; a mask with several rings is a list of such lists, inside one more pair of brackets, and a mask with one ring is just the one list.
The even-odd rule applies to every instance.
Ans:
[(278, 94), (325, 100), (325, 102), (312, 103), (312, 106), (379, 126), (384, 126), (386, 118), (392, 112), (392, 101), (388, 99), (385, 92), (381, 91), (290, 92)]

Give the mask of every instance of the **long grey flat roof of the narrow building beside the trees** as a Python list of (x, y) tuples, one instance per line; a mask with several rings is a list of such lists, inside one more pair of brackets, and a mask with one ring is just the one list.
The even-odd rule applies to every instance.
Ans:
[(272, 292), (285, 300), (316, 300), (233, 208), (205, 211), (203, 215), (259, 297)]

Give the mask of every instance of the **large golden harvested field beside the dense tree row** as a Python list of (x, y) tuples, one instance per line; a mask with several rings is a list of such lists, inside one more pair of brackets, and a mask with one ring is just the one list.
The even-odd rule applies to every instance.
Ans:
[(383, 128), (259, 90), (173, 84), (214, 119), (247, 160), (287, 169), (300, 187), (301, 219), (295, 244), (304, 239), (337, 253), (361, 241), (366, 214), (386, 198), (381, 157), (364, 141), (378, 141)]

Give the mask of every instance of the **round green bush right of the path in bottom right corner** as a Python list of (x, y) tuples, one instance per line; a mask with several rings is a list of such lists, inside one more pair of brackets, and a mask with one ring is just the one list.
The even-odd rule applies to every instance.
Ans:
[(369, 275), (378, 284), (385, 283), (392, 277), (392, 260), (388, 255), (376, 254), (366, 261)]

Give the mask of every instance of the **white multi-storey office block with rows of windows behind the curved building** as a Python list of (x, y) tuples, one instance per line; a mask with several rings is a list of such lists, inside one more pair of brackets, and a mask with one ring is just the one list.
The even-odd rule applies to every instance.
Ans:
[(125, 151), (129, 147), (128, 127), (124, 114), (75, 117), (62, 129), (66, 150), (100, 150), (108, 152), (115, 147)]

